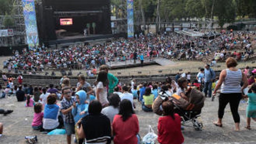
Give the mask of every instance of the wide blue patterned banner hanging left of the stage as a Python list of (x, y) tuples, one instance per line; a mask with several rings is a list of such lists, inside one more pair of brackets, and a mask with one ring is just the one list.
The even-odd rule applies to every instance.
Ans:
[(22, 0), (22, 7), (26, 27), (27, 44), (30, 49), (39, 45), (34, 0)]

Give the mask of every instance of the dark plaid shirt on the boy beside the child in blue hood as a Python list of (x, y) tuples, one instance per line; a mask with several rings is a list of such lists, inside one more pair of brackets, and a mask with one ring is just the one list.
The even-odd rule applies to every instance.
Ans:
[[(70, 107), (73, 105), (73, 103), (74, 103), (75, 101), (76, 101), (76, 99), (75, 99), (74, 97), (72, 97), (72, 98), (70, 99), (70, 101), (67, 101), (67, 100), (65, 99), (65, 97), (64, 97), (64, 98), (62, 99), (62, 101), (61, 101), (61, 110), (70, 108)], [(63, 120), (64, 120), (64, 122), (66, 122), (66, 123), (74, 123), (74, 122), (75, 122), (71, 111), (68, 112), (68, 113), (65, 114), (65, 115), (63, 114)]]

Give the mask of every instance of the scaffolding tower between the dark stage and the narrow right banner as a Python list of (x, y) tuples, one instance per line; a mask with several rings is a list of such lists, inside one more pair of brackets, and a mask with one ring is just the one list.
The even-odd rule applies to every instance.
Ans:
[(112, 33), (127, 33), (127, 5), (126, 0), (116, 0), (111, 3)]

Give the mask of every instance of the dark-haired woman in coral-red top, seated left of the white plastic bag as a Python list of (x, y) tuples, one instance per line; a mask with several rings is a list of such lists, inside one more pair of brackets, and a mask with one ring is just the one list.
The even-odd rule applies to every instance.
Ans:
[(134, 114), (132, 104), (128, 99), (120, 103), (120, 112), (113, 120), (113, 134), (115, 144), (137, 144), (139, 132), (139, 121)]

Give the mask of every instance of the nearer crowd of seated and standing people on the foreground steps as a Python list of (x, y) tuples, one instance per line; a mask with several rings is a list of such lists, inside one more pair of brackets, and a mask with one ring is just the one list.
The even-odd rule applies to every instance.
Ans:
[[(136, 107), (137, 102), (140, 103), (141, 110), (163, 115), (159, 118), (157, 127), (159, 143), (181, 144), (184, 142), (181, 132), (182, 115), (175, 111), (175, 101), (171, 99), (191, 102), (194, 89), (198, 90), (197, 95), (201, 95), (200, 91), (204, 92), (204, 97), (216, 97), (216, 93), (220, 93), (218, 121), (214, 125), (222, 127), (224, 109), (230, 103), (235, 130), (239, 131), (239, 102), (247, 97), (246, 129), (251, 129), (251, 118), (256, 121), (256, 84), (252, 72), (255, 70), (250, 70), (249, 67), (237, 69), (237, 61), (232, 57), (226, 60), (226, 64), (227, 69), (217, 79), (210, 65), (205, 65), (196, 79), (191, 79), (189, 72), (177, 74), (175, 79), (169, 77), (163, 82), (137, 83), (133, 79), (129, 84), (121, 84), (118, 78), (109, 73), (108, 66), (101, 65), (93, 85), (86, 82), (84, 75), (79, 75), (77, 86), (72, 88), (70, 79), (64, 76), (61, 85), (55, 88), (52, 84), (46, 88), (33, 88), (24, 84), (16, 86), (17, 89), (14, 88), (15, 92), (12, 94), (16, 94), (17, 101), (26, 101), (26, 107), (34, 107), (31, 124), (34, 130), (50, 132), (65, 128), (68, 144), (72, 141), (72, 134), (76, 134), (75, 142), (79, 144), (85, 141), (106, 144), (111, 140), (115, 144), (137, 144), (140, 141), (139, 121), (134, 112), (135, 109), (140, 109)], [(6, 77), (5, 74), (2, 76)], [(21, 77), (22, 75), (19, 76)], [(247, 77), (250, 79), (247, 80)], [(12, 80), (6, 81), (6, 89), (13, 85)], [(249, 89), (248, 92), (245, 91), (246, 88)], [(8, 93), (9, 90), (0, 88), (0, 92)], [(198, 111), (203, 103), (204, 99), (200, 100)], [(198, 104), (189, 104), (187, 108), (195, 110), (198, 108), (195, 105)]]

